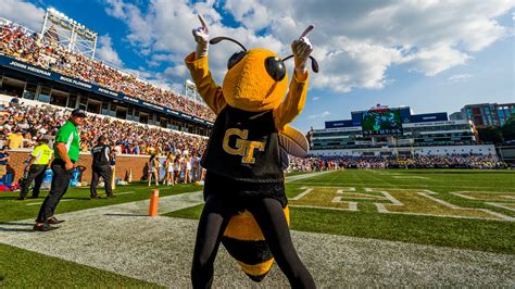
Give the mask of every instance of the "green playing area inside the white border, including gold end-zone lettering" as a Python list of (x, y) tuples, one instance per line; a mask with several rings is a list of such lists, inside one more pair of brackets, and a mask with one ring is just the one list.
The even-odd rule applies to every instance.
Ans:
[[(515, 172), (347, 169), (287, 184), (292, 229), (515, 254)], [(171, 215), (199, 217), (200, 206)]]

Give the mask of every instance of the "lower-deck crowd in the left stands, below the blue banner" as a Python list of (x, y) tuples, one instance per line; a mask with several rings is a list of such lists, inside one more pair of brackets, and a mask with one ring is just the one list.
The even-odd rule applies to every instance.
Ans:
[[(0, 147), (33, 148), (39, 138), (55, 135), (70, 117), (70, 111), (42, 104), (28, 106), (11, 101), (0, 106)], [(113, 117), (89, 115), (80, 127), (80, 150), (90, 151), (100, 135), (105, 134), (117, 153), (165, 155), (171, 151), (189, 151), (201, 155), (204, 137), (120, 121)], [(8, 141), (9, 140), (9, 141)]]

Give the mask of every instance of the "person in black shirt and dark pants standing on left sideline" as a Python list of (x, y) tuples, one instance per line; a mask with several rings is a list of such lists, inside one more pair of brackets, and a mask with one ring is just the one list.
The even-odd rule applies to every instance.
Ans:
[(111, 159), (114, 155), (114, 151), (111, 151), (111, 148), (106, 144), (108, 138), (105, 136), (100, 136), (98, 144), (91, 149), (92, 161), (92, 178), (91, 178), (91, 188), (90, 188), (90, 199), (99, 199), (97, 194), (97, 186), (99, 184), (99, 178), (103, 178), (105, 193), (108, 198), (114, 198), (113, 188), (111, 187)]

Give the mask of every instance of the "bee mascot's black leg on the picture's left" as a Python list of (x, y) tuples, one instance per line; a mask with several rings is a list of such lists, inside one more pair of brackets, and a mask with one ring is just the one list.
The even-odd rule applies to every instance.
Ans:
[[(225, 213), (224, 213), (225, 211)], [(197, 229), (191, 282), (193, 288), (211, 288), (213, 282), (213, 263), (218, 252), (222, 236), (229, 223), (230, 215), (224, 209), (223, 201), (212, 194), (208, 197)]]

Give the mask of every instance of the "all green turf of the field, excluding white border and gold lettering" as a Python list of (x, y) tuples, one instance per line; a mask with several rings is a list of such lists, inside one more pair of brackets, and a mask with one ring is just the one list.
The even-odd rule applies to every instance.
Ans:
[[(402, 178), (413, 176), (423, 178)], [(290, 199), (303, 192), (304, 187), (354, 187), (359, 192), (364, 192), (364, 188), (427, 189), (437, 192), (435, 198), (461, 208), (488, 209), (515, 217), (513, 211), (486, 204), (485, 201), (469, 200), (450, 193), (462, 190), (514, 193), (515, 172), (513, 171), (348, 169), (288, 183), (286, 187), (287, 196)], [(160, 196), (201, 189), (202, 187), (185, 185), (160, 187)], [(102, 191), (99, 190), (99, 192)], [(71, 188), (64, 196), (64, 200), (77, 200), (61, 202), (56, 213), (146, 200), (150, 197), (150, 188), (146, 184), (118, 186), (115, 194), (126, 191), (135, 192), (118, 194), (116, 199), (89, 200), (89, 189)], [(40, 205), (27, 204), (42, 202), (45, 193), (38, 200), (15, 201), (18, 193), (0, 192), (0, 224), (36, 217)], [(202, 208), (203, 205), (198, 205), (169, 213), (167, 216), (198, 219)], [(292, 206), (290, 210), (291, 228), (302, 231), (515, 254), (515, 222), (385, 214), (378, 213), (370, 200), (359, 202), (357, 208), (359, 212), (349, 212)], [(48, 272), (52, 272), (51, 278)], [(52, 279), (51, 284), (48, 281), (49, 279)], [(0, 287), (20, 288), (34, 287), (35, 285), (60, 288), (155, 287), (155, 285), (125, 276), (0, 244)]]

